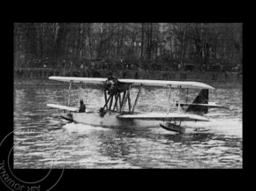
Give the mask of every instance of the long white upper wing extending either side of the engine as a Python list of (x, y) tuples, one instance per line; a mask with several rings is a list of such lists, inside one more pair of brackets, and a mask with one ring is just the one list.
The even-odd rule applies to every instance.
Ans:
[[(87, 84), (103, 84), (107, 78), (96, 78), (96, 77), (49, 77), (49, 79), (70, 82), (73, 83), (87, 83)], [(161, 86), (168, 87), (169, 85), (173, 88), (195, 88), (195, 89), (215, 89), (214, 87), (200, 83), (200, 82), (189, 82), (189, 81), (165, 81), (165, 80), (149, 80), (149, 79), (118, 79), (123, 83), (129, 83), (133, 85), (145, 85), (145, 86)]]

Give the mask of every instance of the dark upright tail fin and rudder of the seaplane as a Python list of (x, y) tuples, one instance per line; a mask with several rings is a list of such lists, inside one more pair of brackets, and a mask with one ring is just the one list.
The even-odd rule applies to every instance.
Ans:
[[(194, 99), (192, 102), (193, 104), (208, 104), (208, 95), (209, 91), (208, 89), (202, 89), (199, 93), (199, 95)], [(197, 114), (207, 114), (208, 113), (208, 107), (206, 106), (195, 106), (191, 105), (187, 108), (187, 112), (195, 112)]]

